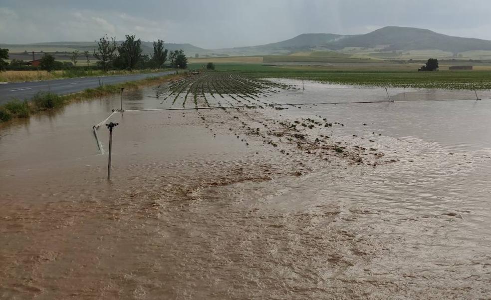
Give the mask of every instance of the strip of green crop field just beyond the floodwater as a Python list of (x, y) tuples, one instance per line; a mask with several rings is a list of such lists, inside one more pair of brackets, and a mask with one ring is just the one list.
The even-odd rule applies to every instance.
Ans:
[[(191, 64), (198, 69), (201, 64)], [(340, 70), (340, 69), (300, 69), (295, 67), (276, 67), (262, 64), (220, 64), (216, 71), (241, 72), (253, 77), (269, 78), (305, 78), (340, 84), (381, 87), (414, 87), (438, 89), (490, 90), (491, 71), (457, 70), (418, 72), (415, 70)]]

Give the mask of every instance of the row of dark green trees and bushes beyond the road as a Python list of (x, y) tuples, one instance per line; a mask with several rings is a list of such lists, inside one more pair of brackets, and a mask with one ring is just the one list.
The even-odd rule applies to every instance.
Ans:
[[(97, 67), (106, 72), (109, 69), (120, 69), (133, 71), (134, 69), (145, 68), (163, 68), (166, 61), (173, 68), (185, 69), (188, 65), (188, 59), (184, 50), (168, 51), (164, 48), (164, 41), (158, 39), (153, 42), (153, 54), (143, 54), (142, 41), (136, 39), (135, 35), (125, 35), (125, 40), (119, 45), (116, 43), (115, 37), (109, 37), (107, 34), (102, 36), (97, 42), (97, 49), (94, 49), (92, 55), (97, 59)], [(78, 50), (75, 50), (70, 55), (71, 63), (55, 61), (54, 56), (49, 53), (44, 53), (40, 59), (39, 67), (43, 70), (52, 71), (69, 66), (76, 66), (78, 58), (82, 55)], [(83, 55), (89, 65), (90, 53), (84, 51)], [(4, 61), (8, 59), (8, 49), (0, 49), (0, 71), (5, 70), (8, 65)], [(12, 59), (12, 66), (25, 65), (22, 60)]]

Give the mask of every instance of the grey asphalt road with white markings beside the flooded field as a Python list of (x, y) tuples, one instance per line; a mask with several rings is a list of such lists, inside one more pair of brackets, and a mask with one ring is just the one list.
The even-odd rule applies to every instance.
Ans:
[(0, 84), (0, 105), (13, 98), (20, 100), (30, 99), (38, 91), (51, 91), (59, 95), (79, 92), (86, 88), (99, 86), (99, 78), (103, 84), (112, 84), (126, 81), (134, 81), (147, 77), (155, 77), (172, 74), (175, 71), (166, 71), (159, 73), (146, 73), (135, 75), (115, 75), (101, 77), (83, 77), (43, 81), (14, 82)]

